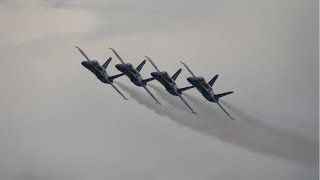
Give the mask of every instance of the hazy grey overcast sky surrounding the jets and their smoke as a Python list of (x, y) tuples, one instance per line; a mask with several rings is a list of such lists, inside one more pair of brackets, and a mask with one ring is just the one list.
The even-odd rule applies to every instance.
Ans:
[[(318, 8), (316, 0), (0, 0), (0, 179), (318, 179)], [(112, 56), (109, 74), (119, 61), (108, 47), (133, 65), (148, 55), (169, 74), (179, 60), (206, 80), (219, 74), (214, 90), (233, 90), (225, 101), (272, 128), (219, 123), (230, 120), (196, 90), (188, 94), (221, 113), (211, 124), (219, 128), (159, 116), (100, 83), (74, 45), (101, 63)], [(152, 71), (147, 63), (141, 74)], [(189, 76), (183, 69), (178, 86)], [(286, 134), (296, 143), (284, 147), (301, 157), (254, 149), (241, 132), (224, 137), (237, 129), (262, 147)], [(270, 145), (286, 152), (280, 140)]]

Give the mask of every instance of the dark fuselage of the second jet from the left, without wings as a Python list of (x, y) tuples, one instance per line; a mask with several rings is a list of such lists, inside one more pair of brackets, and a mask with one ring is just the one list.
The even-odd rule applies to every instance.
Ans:
[(116, 68), (125, 74), (136, 86), (146, 86), (147, 83), (143, 81), (140, 73), (130, 63), (116, 64)]

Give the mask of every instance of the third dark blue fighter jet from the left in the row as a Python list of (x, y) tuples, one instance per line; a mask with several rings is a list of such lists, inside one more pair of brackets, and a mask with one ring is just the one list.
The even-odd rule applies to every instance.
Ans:
[(190, 105), (187, 103), (187, 101), (182, 97), (182, 92), (186, 91), (188, 89), (194, 88), (194, 86), (188, 86), (185, 88), (178, 88), (177, 84), (175, 83), (175, 80), (181, 73), (182, 69), (180, 68), (172, 77), (169, 76), (169, 74), (166, 71), (160, 71), (158, 67), (154, 64), (154, 62), (148, 57), (145, 56), (152, 66), (157, 70), (157, 72), (152, 72), (151, 76), (159, 81), (166, 90), (173, 96), (179, 96), (181, 100), (188, 106), (188, 108), (192, 111), (192, 113), (196, 114), (194, 110), (190, 107)]

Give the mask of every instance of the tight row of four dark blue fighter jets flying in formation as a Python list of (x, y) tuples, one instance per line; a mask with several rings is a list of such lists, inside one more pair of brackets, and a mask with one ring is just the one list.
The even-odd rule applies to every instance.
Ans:
[(233, 91), (229, 91), (221, 94), (215, 94), (214, 91), (212, 90), (212, 86), (217, 80), (218, 74), (215, 75), (207, 83), (202, 76), (195, 76), (194, 73), (191, 71), (191, 69), (184, 62), (180, 61), (192, 76), (187, 78), (187, 81), (191, 84), (191, 86), (179, 88), (175, 80), (180, 75), (182, 71), (181, 68), (178, 69), (178, 71), (170, 77), (166, 71), (160, 71), (150, 57), (145, 56), (145, 58), (151, 63), (151, 65), (155, 68), (156, 71), (151, 72), (150, 78), (144, 79), (140, 75), (140, 71), (145, 65), (147, 61), (146, 59), (143, 60), (136, 68), (134, 68), (131, 63), (125, 63), (115, 49), (109, 48), (121, 62), (120, 64), (115, 65), (115, 67), (121, 73), (110, 76), (107, 73), (106, 69), (110, 64), (112, 57), (110, 57), (105, 63), (100, 65), (97, 60), (91, 60), (81, 48), (77, 46), (75, 47), (80, 51), (80, 53), (86, 59), (85, 61), (82, 61), (81, 64), (85, 68), (87, 68), (89, 71), (91, 71), (102, 83), (110, 84), (126, 100), (128, 100), (128, 98), (126, 98), (123, 95), (123, 93), (114, 85), (113, 83), (114, 79), (119, 78), (123, 75), (127, 76), (134, 85), (144, 88), (148, 92), (148, 94), (156, 101), (156, 103), (160, 104), (158, 99), (152, 94), (152, 92), (147, 87), (148, 82), (157, 80), (171, 95), (178, 96), (182, 100), (182, 102), (190, 109), (192, 113), (197, 114), (183, 97), (183, 92), (192, 88), (196, 88), (206, 100), (216, 103), (230, 119), (234, 120), (234, 118), (223, 108), (223, 106), (219, 102), (219, 99), (221, 97), (229, 95), (233, 93)]

